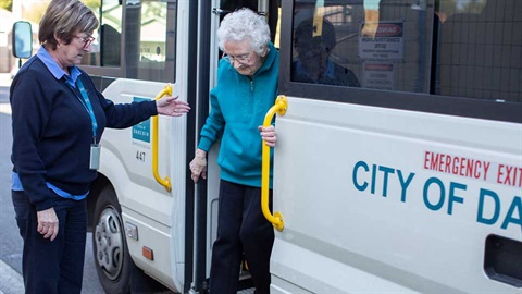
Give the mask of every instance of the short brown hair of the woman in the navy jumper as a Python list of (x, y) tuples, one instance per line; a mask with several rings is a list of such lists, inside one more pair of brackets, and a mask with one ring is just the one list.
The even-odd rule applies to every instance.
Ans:
[(38, 40), (57, 49), (57, 35), (70, 44), (78, 32), (92, 32), (99, 25), (95, 13), (79, 0), (52, 0), (40, 20)]

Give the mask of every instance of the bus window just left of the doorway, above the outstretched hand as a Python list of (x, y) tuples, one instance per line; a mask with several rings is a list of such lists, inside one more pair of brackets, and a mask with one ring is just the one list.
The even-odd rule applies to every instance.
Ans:
[(134, 15), (125, 24), (127, 77), (174, 81), (175, 11), (175, 1), (127, 2), (126, 13)]

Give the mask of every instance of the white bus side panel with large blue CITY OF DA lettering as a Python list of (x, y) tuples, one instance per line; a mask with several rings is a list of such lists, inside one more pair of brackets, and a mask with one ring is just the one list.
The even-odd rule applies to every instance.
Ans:
[(522, 241), (520, 124), (288, 97), (276, 127), (274, 293), (522, 293), (484, 272)]

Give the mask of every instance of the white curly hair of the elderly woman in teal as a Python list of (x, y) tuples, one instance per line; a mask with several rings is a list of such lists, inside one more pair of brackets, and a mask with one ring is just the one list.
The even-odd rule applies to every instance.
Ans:
[(222, 51), (227, 41), (250, 40), (250, 48), (261, 56), (270, 42), (270, 27), (263, 16), (243, 8), (223, 19), (217, 28), (217, 40)]

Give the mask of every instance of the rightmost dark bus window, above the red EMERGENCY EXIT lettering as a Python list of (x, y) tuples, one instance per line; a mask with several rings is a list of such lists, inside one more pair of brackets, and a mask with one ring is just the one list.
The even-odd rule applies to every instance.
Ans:
[(436, 94), (522, 102), (522, 5), (482, 0), (467, 5), (440, 0)]

